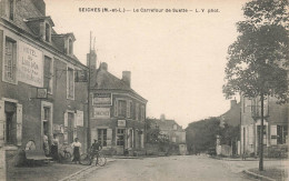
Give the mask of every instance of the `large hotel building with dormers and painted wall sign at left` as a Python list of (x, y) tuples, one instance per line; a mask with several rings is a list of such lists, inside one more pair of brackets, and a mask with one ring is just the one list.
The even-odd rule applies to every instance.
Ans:
[(0, 1), (0, 147), (43, 150), (78, 137), (86, 148), (87, 67), (73, 54), (73, 33), (58, 34), (43, 0)]

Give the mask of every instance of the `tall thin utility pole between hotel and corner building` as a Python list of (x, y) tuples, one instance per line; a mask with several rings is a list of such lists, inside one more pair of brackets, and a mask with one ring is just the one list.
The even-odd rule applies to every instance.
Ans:
[(90, 61), (91, 61), (91, 31), (89, 38), (89, 61), (88, 61), (88, 130), (87, 130), (87, 140), (88, 140), (88, 150), (91, 144), (91, 132), (90, 132)]

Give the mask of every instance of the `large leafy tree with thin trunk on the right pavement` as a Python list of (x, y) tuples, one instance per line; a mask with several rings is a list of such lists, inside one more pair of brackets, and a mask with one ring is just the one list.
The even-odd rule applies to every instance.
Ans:
[(239, 37), (228, 49), (223, 93), (259, 98), (261, 135), (259, 170), (263, 170), (263, 101), (276, 97), (288, 101), (288, 1), (252, 0), (243, 7), (245, 21), (237, 23)]

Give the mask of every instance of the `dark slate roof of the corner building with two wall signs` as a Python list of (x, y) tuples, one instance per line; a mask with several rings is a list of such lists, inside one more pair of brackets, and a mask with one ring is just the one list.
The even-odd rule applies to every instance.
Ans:
[(131, 89), (123, 80), (117, 78), (109, 71), (103, 70), (101, 68), (92, 72), (91, 89), (127, 91), (147, 102), (144, 98), (142, 98), (139, 93)]

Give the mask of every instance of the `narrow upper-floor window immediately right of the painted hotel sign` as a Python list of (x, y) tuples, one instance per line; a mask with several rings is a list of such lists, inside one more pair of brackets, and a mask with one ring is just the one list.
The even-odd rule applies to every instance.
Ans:
[(44, 88), (52, 93), (52, 59), (44, 57)]

